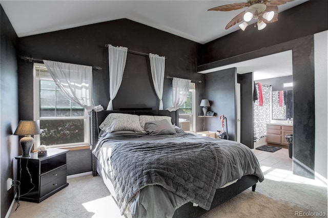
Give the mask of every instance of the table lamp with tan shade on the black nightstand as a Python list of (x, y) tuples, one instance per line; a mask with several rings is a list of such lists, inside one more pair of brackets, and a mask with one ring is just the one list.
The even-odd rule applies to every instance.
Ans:
[(28, 158), (31, 156), (30, 152), (34, 143), (34, 139), (31, 135), (38, 134), (40, 134), (40, 129), (36, 121), (19, 121), (14, 135), (24, 136), (19, 140), (20, 147), (22, 147), (23, 151), (23, 158)]

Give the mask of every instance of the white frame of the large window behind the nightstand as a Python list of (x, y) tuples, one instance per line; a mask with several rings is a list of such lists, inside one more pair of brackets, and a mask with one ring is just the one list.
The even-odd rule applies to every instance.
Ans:
[[(67, 144), (56, 144), (56, 145), (46, 145), (47, 147), (77, 147), (86, 146), (90, 147), (90, 119), (87, 110), (84, 110), (84, 116), (79, 117), (40, 117), (40, 79), (36, 76), (36, 66), (46, 67), (43, 63), (33, 64), (33, 117), (40, 126), (40, 120), (84, 120), (84, 142), (77, 143), (67, 143)], [(53, 81), (52, 78), (42, 78), (42, 80)], [(40, 146), (40, 135), (34, 135), (34, 147), (37, 149)]]

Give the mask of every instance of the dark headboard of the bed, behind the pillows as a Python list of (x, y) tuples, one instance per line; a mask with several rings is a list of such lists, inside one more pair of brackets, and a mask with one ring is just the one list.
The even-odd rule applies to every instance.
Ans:
[[(179, 123), (179, 112), (178, 111), (153, 111), (153, 110), (124, 110), (124, 111), (101, 111), (95, 112), (91, 111), (90, 114), (90, 125), (91, 125), (91, 146), (92, 149), (95, 148), (98, 142), (98, 133), (99, 133), (99, 125), (106, 119), (109, 114), (112, 113), (120, 113), (120, 114), (135, 114), (135, 115), (152, 115), (152, 116), (169, 116), (172, 117), (172, 124), (178, 125)], [(92, 175), (97, 176), (96, 169), (96, 157), (92, 155)]]

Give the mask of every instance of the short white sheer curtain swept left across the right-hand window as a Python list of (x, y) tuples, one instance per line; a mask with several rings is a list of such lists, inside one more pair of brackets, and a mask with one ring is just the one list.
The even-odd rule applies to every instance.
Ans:
[(176, 111), (186, 102), (189, 93), (190, 82), (190, 79), (173, 77), (173, 106), (167, 108), (168, 111)]

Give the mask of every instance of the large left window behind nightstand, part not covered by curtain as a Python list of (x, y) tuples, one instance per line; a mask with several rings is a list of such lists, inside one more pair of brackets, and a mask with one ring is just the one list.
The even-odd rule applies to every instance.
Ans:
[(89, 144), (89, 117), (58, 88), (44, 64), (34, 64), (34, 118), (40, 135), (35, 145), (64, 147)]

